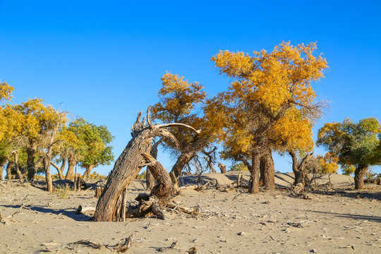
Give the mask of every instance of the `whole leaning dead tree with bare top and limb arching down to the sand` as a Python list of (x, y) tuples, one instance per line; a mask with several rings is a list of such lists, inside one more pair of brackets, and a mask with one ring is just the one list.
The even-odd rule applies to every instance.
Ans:
[[(159, 187), (155, 186), (152, 188), (152, 198), (150, 195), (148, 200), (141, 200), (142, 204), (139, 206), (139, 213), (136, 210), (131, 212), (131, 209), (126, 211), (126, 187), (135, 179), (135, 176), (139, 174), (142, 167), (148, 166), (153, 168), (155, 165), (161, 166), (156, 160), (155, 162), (147, 162), (150, 161), (150, 158), (147, 159), (147, 155), (150, 156), (153, 138), (160, 136), (178, 144), (174, 135), (167, 130), (167, 127), (171, 126), (185, 126), (195, 131), (194, 128), (183, 123), (152, 124), (150, 121), (150, 108), (147, 110), (147, 121), (145, 118), (141, 121), (141, 112), (138, 113), (138, 119), (135, 121), (131, 131), (132, 139), (116, 160), (114, 169), (112, 169), (107, 179), (106, 186), (99, 196), (93, 217), (94, 221), (121, 221), (134, 214), (141, 216), (150, 210), (153, 212), (155, 207), (157, 207), (157, 203), (164, 205), (164, 200), (167, 197), (167, 186), (165, 184), (158, 184)], [(199, 133), (200, 131), (195, 132)], [(155, 176), (151, 168), (150, 171)], [(169, 177), (167, 171), (166, 174)], [(158, 181), (158, 179), (156, 180)], [(162, 181), (166, 182), (167, 179), (162, 179)], [(159, 188), (159, 192), (157, 192), (156, 187)], [(165, 190), (163, 189), (164, 187)], [(171, 185), (169, 189), (171, 190)], [(163, 191), (164, 194), (160, 193), (160, 191)]]

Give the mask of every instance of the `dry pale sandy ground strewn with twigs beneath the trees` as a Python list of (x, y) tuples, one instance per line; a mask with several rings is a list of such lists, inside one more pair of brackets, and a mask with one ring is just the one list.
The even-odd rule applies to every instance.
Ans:
[[(200, 181), (215, 184), (216, 179), (223, 187), (236, 174), (207, 174)], [(196, 181), (186, 176), (181, 183)], [(75, 214), (78, 205), (95, 207), (93, 190), (71, 191), (66, 198), (3, 181), (0, 253), (111, 253), (73, 242), (90, 239), (115, 245), (131, 234), (133, 244), (126, 253), (188, 253), (193, 247), (197, 253), (381, 253), (381, 186), (368, 184), (363, 191), (353, 191), (351, 177), (332, 175), (333, 189), (322, 187), (307, 193), (306, 199), (284, 188), (292, 181), (292, 174), (277, 174), (279, 188), (258, 195), (244, 188), (185, 188), (176, 200), (197, 206), (197, 217), (167, 212), (166, 221), (148, 217), (128, 222), (90, 222), (91, 214)], [(131, 183), (130, 202), (145, 192), (144, 185)], [(168, 248), (174, 241), (177, 248)]]

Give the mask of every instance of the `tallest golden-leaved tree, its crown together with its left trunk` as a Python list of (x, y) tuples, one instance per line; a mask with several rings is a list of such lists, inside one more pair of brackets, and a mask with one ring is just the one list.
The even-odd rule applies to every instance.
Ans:
[[(314, 56), (315, 50), (315, 43), (294, 47), (282, 42), (270, 53), (220, 51), (212, 57), (220, 73), (231, 78), (229, 90), (214, 99), (212, 115), (224, 115), (214, 119), (224, 121), (224, 145), (243, 150), (250, 161), (249, 193), (259, 193), (260, 158), (271, 145), (269, 133), (277, 123), (291, 110), (307, 118), (321, 114), (311, 83), (323, 77), (327, 61), (321, 54)], [(287, 128), (282, 135), (292, 131)], [(237, 147), (241, 145), (246, 147)]]

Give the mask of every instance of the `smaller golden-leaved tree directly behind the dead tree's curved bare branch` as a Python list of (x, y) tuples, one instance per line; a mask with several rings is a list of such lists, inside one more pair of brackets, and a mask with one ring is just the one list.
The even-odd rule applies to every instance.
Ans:
[[(190, 83), (183, 76), (165, 73), (162, 77), (162, 88), (159, 90), (159, 102), (152, 107), (152, 119), (162, 123), (185, 123), (201, 133), (195, 135), (188, 128), (171, 128), (171, 133), (179, 140), (176, 147), (171, 142), (164, 142), (164, 147), (176, 156), (176, 163), (171, 172), (179, 177), (183, 167), (199, 152), (205, 151), (214, 140), (212, 126), (202, 114), (207, 94), (198, 82)], [(165, 141), (165, 140), (164, 140)]]

